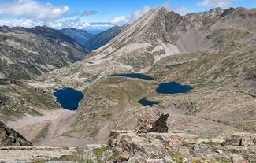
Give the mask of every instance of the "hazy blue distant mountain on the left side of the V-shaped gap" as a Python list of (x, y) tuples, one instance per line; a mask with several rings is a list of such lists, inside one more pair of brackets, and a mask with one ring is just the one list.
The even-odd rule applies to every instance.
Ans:
[(81, 45), (86, 45), (87, 41), (89, 41), (92, 38), (92, 34), (76, 29), (76, 28), (64, 28), (60, 30), (64, 35), (68, 35), (70, 38), (75, 39), (77, 43), (80, 43)]

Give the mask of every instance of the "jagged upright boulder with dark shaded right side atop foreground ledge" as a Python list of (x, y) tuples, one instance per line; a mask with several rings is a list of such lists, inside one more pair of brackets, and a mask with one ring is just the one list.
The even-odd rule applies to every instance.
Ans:
[(136, 132), (168, 132), (168, 113), (146, 113), (139, 117)]

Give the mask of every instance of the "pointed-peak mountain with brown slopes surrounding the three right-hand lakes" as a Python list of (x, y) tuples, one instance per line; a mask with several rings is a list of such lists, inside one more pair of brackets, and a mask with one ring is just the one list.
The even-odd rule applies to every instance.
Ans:
[[(151, 9), (83, 61), (43, 76), (54, 87), (74, 87), (87, 98), (65, 132), (91, 143), (106, 141), (109, 129), (135, 129), (155, 109), (172, 115), (171, 130), (210, 138), (232, 132), (255, 132), (256, 9), (210, 9), (181, 16)], [(154, 81), (114, 73), (141, 72)], [(187, 94), (157, 94), (160, 83), (189, 84)]]

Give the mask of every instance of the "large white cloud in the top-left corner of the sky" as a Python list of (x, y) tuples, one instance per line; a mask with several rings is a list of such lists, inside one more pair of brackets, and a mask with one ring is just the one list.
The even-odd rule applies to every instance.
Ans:
[(68, 6), (54, 6), (36, 0), (0, 3), (0, 15), (25, 17), (31, 20), (56, 20), (68, 11)]

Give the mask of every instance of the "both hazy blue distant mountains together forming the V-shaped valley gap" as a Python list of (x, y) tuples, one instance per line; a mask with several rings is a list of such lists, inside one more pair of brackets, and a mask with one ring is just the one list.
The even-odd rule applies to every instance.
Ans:
[(122, 27), (114, 26), (113, 28), (109, 28), (108, 30), (102, 31), (96, 35), (91, 34), (91, 32), (76, 28), (64, 28), (60, 31), (64, 35), (75, 39), (81, 45), (86, 46), (88, 50), (96, 50), (99, 47), (106, 45), (106, 43), (109, 43), (111, 39), (121, 33), (121, 31), (123, 31), (126, 27), (127, 25)]

